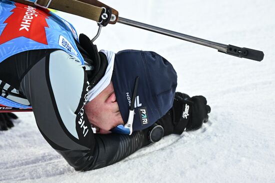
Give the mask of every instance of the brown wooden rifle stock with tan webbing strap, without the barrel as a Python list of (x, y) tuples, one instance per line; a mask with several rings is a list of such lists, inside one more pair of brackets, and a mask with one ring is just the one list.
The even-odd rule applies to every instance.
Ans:
[[(104, 13), (104, 8), (110, 8), (98, 0), (35, 0), (31, 2), (29, 0), (12, 0), (15, 2), (40, 6), (43, 8), (51, 8), (82, 16), (94, 21), (101, 21), (101, 15)], [(104, 7), (104, 8), (103, 8)], [(118, 19), (118, 11), (111, 9), (111, 19), (108, 23), (114, 24)]]

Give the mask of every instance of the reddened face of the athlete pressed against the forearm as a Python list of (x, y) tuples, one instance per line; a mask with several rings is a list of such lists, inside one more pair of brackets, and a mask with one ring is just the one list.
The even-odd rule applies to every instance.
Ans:
[(97, 133), (107, 134), (117, 125), (123, 125), (112, 82), (84, 106), (89, 122)]

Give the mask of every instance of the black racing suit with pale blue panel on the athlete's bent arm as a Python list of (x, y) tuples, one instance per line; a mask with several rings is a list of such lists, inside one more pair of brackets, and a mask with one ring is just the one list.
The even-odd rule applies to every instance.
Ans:
[[(91, 61), (77, 46), (85, 61)], [(1, 96), (25, 98), (45, 140), (77, 171), (111, 165), (149, 144), (148, 129), (131, 136), (93, 134), (83, 105), (88, 89), (100, 79), (89, 84), (89, 77), (104, 73), (106, 61), (98, 67), (103, 69), (85, 71), (75, 58), (56, 49), (29, 50), (0, 63)]]

